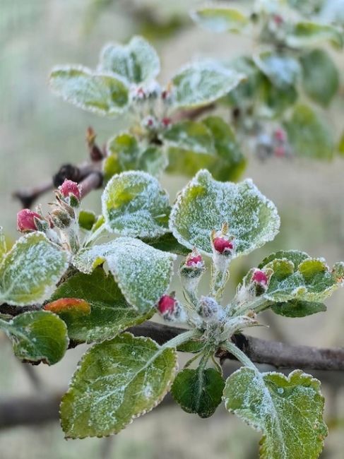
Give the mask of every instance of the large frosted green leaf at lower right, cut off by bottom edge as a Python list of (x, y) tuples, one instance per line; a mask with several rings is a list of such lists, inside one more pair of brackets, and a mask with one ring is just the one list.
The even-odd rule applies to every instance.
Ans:
[(290, 375), (235, 371), (223, 392), (227, 410), (263, 434), (261, 459), (316, 459), (327, 427), (320, 382), (301, 370)]

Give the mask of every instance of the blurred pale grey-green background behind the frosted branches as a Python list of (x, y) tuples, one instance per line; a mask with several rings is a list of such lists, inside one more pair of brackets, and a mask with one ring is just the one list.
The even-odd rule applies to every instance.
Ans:
[[(237, 4), (247, 2), (237, 1)], [(237, 35), (213, 35), (196, 27), (188, 16), (196, 0), (0, 0), (0, 193), (1, 225), (9, 240), (16, 238), (19, 204), (11, 193), (44, 181), (64, 162), (87, 157), (85, 130), (93, 126), (102, 143), (122, 128), (121, 119), (102, 119), (64, 104), (47, 87), (55, 64), (94, 66), (105, 42), (126, 41), (133, 34), (152, 40), (162, 59), (161, 80), (195, 56), (236, 56), (252, 43)], [(344, 70), (343, 54), (338, 59)], [(333, 135), (343, 131), (344, 81), (341, 95), (328, 112)], [(260, 162), (249, 157), (245, 177), (252, 177), (278, 206), (282, 229), (274, 242), (237, 261), (232, 288), (247, 268), (273, 249), (301, 249), (325, 256), (331, 265), (344, 260), (344, 162), (283, 160)], [(171, 196), (186, 179), (163, 177)], [(100, 193), (87, 206), (100, 208)], [(47, 201), (51, 195), (47, 195)], [(46, 201), (46, 200), (44, 200)], [(343, 347), (344, 292), (327, 303), (328, 312), (304, 319), (266, 313), (270, 328), (256, 331), (267, 339), (294, 344)], [(84, 346), (50, 367), (35, 368), (33, 383), (11, 346), (0, 335), (0, 401), (35, 391), (63, 391)], [(227, 371), (235, 369), (235, 364)], [(316, 374), (324, 383), (326, 420), (330, 434), (321, 458), (343, 458), (344, 375)], [(210, 419), (186, 415), (173, 404), (141, 419), (111, 439), (64, 441), (57, 423), (0, 431), (1, 459), (69, 458), (212, 458), (257, 457), (258, 434), (223, 408)], [(296, 458), (295, 458), (296, 459)]]

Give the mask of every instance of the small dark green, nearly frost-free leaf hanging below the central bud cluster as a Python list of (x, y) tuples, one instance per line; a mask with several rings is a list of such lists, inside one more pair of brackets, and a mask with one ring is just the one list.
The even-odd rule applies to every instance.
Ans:
[(221, 403), (225, 381), (213, 368), (184, 369), (174, 379), (171, 393), (187, 413), (210, 417)]

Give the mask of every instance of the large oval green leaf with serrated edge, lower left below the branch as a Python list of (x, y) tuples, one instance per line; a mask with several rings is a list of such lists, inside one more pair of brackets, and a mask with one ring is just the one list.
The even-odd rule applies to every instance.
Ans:
[(61, 402), (66, 438), (107, 436), (150, 411), (169, 391), (177, 352), (122, 333), (85, 353)]

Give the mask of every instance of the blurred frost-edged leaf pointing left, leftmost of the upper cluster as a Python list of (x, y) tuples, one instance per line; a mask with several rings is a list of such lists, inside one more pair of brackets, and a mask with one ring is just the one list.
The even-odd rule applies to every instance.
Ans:
[(53, 93), (89, 112), (114, 116), (123, 113), (129, 104), (126, 83), (83, 66), (56, 67), (49, 83)]

